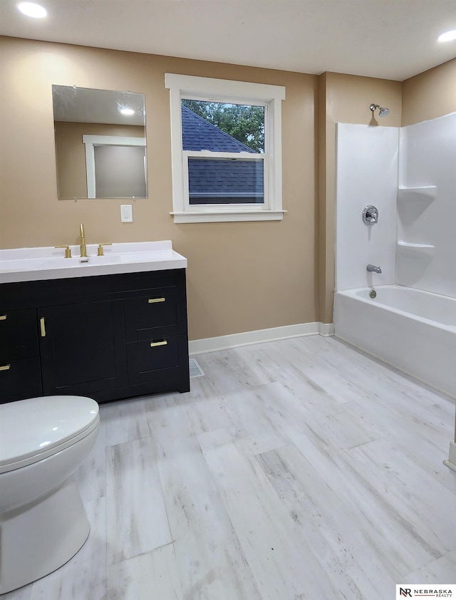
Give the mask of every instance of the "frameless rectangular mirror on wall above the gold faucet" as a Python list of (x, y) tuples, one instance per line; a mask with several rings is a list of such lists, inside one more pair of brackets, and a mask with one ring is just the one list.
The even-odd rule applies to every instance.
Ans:
[(147, 198), (145, 95), (52, 86), (59, 200)]

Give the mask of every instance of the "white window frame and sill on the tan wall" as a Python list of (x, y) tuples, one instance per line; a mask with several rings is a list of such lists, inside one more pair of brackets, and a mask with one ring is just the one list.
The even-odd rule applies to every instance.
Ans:
[[(247, 83), (165, 73), (165, 87), (170, 90), (172, 207), (175, 223), (208, 223), (223, 221), (279, 221), (282, 210), (281, 176), (281, 101), (285, 100), (283, 86)], [(239, 158), (264, 161), (264, 204), (190, 205), (188, 157), (222, 158), (224, 152), (182, 150), (181, 100), (264, 106), (266, 152), (239, 152)], [(232, 157), (230, 152), (227, 157)]]

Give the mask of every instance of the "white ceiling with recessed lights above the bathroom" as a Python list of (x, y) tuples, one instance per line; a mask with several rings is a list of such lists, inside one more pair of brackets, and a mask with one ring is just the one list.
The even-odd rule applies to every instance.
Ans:
[(403, 81), (456, 57), (456, 0), (0, 0), (0, 34), (320, 74)]

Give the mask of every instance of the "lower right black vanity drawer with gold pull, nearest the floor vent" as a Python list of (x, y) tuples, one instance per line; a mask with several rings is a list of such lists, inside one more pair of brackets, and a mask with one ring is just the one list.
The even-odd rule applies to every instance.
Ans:
[(130, 385), (154, 381), (168, 371), (172, 377), (182, 370), (187, 358), (187, 336), (155, 338), (127, 345), (128, 381)]

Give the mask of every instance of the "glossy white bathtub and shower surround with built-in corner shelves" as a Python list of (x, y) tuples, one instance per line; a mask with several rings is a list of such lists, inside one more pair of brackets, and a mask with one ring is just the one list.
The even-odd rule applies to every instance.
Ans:
[[(456, 113), (338, 123), (336, 185), (335, 336), (456, 398)], [(377, 224), (363, 222), (367, 205)]]

